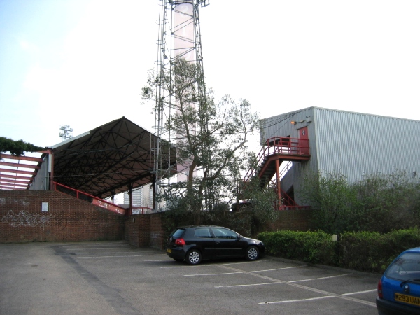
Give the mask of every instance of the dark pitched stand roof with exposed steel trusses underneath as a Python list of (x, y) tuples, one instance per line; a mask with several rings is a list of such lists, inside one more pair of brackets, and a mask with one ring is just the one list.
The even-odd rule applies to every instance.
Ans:
[[(144, 186), (153, 181), (155, 140), (125, 117), (113, 120), (53, 146), (53, 180), (100, 198)], [(175, 165), (176, 149), (162, 160)]]

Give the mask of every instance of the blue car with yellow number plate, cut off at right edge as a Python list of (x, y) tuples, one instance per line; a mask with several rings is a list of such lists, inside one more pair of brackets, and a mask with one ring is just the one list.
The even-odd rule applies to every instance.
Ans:
[(379, 315), (420, 314), (420, 247), (403, 251), (378, 283)]

